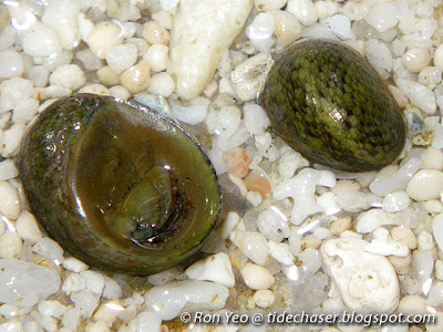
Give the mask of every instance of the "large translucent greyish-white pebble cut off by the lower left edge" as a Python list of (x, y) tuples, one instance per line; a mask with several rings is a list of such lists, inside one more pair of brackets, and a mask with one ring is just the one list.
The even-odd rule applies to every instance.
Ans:
[(0, 301), (18, 307), (32, 307), (55, 293), (59, 273), (51, 268), (20, 261), (0, 260)]

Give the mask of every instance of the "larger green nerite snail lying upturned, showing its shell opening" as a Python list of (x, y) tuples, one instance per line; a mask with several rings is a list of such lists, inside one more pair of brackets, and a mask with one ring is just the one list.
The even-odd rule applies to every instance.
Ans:
[(196, 141), (157, 113), (109, 96), (50, 105), (18, 167), (48, 234), (107, 271), (150, 274), (189, 263), (220, 211), (214, 168)]

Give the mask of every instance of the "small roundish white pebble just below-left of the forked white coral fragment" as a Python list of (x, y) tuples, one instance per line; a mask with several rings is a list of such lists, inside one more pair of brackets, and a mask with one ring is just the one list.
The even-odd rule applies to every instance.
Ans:
[(269, 240), (281, 242), (289, 238), (288, 218), (275, 206), (264, 210), (257, 218), (258, 230)]

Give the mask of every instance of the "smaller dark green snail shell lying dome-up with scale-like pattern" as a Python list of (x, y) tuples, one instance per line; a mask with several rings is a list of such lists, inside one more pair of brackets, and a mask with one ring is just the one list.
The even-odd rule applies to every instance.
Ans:
[(259, 102), (276, 134), (311, 163), (375, 170), (404, 146), (405, 124), (387, 84), (363, 56), (334, 41), (285, 50)]

